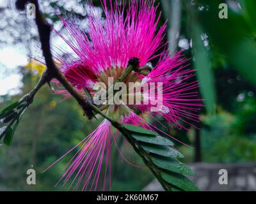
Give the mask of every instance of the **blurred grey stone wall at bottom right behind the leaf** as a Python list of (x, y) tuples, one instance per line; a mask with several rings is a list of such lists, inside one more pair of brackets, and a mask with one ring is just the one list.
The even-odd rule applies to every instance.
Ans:
[[(256, 164), (209, 164), (189, 165), (195, 177), (189, 177), (201, 191), (256, 191)], [(220, 184), (219, 171), (227, 170), (228, 184)], [(157, 182), (152, 181), (143, 191), (163, 191)]]

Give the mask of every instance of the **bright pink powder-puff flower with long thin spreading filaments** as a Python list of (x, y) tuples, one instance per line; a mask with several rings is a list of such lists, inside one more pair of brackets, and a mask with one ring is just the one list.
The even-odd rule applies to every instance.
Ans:
[[(87, 15), (86, 31), (80, 29), (72, 20), (60, 17), (68, 36), (63, 36), (58, 31), (56, 33), (74, 51), (74, 54), (65, 54), (59, 48), (60, 52), (54, 54), (54, 60), (60, 62), (58, 67), (62, 73), (77, 91), (84, 94), (86, 90), (93, 98), (96, 94), (93, 85), (101, 82), (106, 84), (106, 89), (110, 88), (108, 78), (112, 78), (115, 83), (135, 61), (139, 70), (128, 73), (123, 80), (124, 84), (129, 87), (129, 82), (139, 85), (161, 83), (162, 106), (159, 108), (152, 103), (158, 92), (157, 87), (153, 87), (147, 96), (142, 94), (141, 100), (148, 98), (147, 104), (121, 101), (118, 105), (99, 106), (104, 107), (102, 109), (106, 115), (118, 122), (152, 131), (159, 130), (148, 122), (152, 120), (157, 123), (155, 116), (163, 117), (170, 126), (177, 128), (188, 129), (186, 124), (193, 126), (194, 122), (189, 121), (199, 120), (196, 112), (202, 106), (202, 100), (198, 99), (196, 92), (198, 82), (193, 81), (194, 71), (188, 68), (188, 60), (183, 57), (182, 52), (168, 55), (165, 48), (167, 43), (163, 41), (166, 24), (157, 27), (160, 19), (156, 13), (158, 6), (154, 6), (154, 1), (151, 0), (132, 1), (127, 5), (120, 5), (117, 1), (108, 3), (110, 10), (107, 8), (107, 1), (102, 1), (104, 18), (89, 3), (91, 9)], [(153, 60), (158, 62), (151, 68), (148, 63)], [(57, 92), (68, 97), (65, 90)], [(134, 94), (136, 98), (136, 92)], [(152, 107), (155, 108), (154, 112), (150, 111)], [(75, 149), (78, 151), (61, 177), (64, 184), (70, 181), (70, 187), (75, 190), (97, 190), (102, 178), (100, 183), (104, 190), (106, 178), (109, 177), (110, 187), (111, 145), (115, 143), (113, 140), (117, 134), (112, 131), (111, 123), (104, 119), (95, 131), (71, 149), (67, 154)]]

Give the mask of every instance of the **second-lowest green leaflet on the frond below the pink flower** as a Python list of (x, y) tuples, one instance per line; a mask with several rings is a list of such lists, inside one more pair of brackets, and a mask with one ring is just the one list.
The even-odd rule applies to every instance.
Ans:
[(181, 163), (180, 161), (177, 161), (176, 159), (168, 157), (152, 157), (152, 161), (154, 164), (156, 164), (156, 166), (159, 166), (164, 170), (181, 173), (183, 175), (195, 175), (195, 173), (190, 168), (188, 168), (188, 166)]

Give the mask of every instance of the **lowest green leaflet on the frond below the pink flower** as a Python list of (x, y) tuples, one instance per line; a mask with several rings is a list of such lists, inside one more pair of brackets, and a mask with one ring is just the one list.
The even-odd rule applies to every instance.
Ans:
[(191, 182), (191, 180), (184, 177), (183, 175), (180, 175), (179, 173), (162, 172), (161, 177), (169, 184), (179, 187), (179, 189), (184, 191), (199, 191), (198, 187), (196, 187), (195, 184)]

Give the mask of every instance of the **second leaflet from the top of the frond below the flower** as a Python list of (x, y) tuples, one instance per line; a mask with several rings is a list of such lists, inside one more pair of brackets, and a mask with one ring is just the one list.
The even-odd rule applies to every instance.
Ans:
[(134, 135), (132, 137), (141, 142), (153, 143), (156, 145), (170, 145), (173, 146), (173, 142), (164, 138), (163, 136), (153, 136), (153, 135)]

